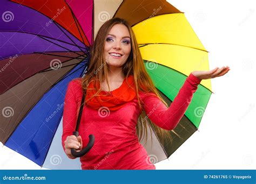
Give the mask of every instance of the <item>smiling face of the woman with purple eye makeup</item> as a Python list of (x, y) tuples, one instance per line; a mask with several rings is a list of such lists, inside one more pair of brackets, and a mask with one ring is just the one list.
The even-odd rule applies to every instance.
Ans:
[(112, 27), (104, 46), (104, 58), (110, 67), (122, 67), (131, 52), (131, 38), (127, 27), (116, 24)]

